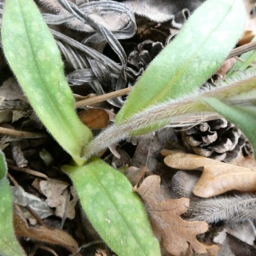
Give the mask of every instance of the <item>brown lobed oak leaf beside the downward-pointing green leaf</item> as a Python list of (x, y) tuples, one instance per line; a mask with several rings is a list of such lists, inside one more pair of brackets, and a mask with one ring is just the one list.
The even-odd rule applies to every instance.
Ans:
[(186, 255), (189, 246), (196, 253), (216, 255), (218, 247), (207, 246), (196, 240), (196, 235), (208, 230), (205, 221), (184, 221), (180, 215), (187, 211), (189, 198), (166, 199), (160, 201), (160, 177), (151, 175), (145, 178), (141, 186), (134, 191), (143, 199), (152, 224), (154, 236), (172, 255)]

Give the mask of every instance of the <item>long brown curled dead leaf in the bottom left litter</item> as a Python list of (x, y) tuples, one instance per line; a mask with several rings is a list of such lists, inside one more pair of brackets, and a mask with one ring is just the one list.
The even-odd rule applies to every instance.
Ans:
[(18, 214), (14, 214), (15, 235), (65, 247), (71, 253), (77, 253), (79, 245), (64, 230), (47, 226), (28, 227)]

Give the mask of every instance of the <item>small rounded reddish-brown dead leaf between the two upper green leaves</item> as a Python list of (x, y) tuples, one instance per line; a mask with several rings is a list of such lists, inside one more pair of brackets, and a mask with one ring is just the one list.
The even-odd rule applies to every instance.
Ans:
[(102, 129), (108, 126), (108, 113), (102, 108), (90, 108), (79, 113), (79, 118), (90, 129)]

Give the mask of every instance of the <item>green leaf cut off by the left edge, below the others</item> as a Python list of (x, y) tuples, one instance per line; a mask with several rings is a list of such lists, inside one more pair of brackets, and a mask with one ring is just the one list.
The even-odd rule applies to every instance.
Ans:
[(3, 152), (0, 151), (0, 254), (3, 256), (25, 256), (15, 237), (13, 227), (13, 201), (6, 177), (7, 167)]

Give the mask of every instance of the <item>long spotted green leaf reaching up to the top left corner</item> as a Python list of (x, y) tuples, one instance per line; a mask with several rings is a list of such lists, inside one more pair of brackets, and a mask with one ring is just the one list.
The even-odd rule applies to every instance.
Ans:
[[(55, 39), (32, 0), (6, 0), (3, 51), (32, 108), (56, 141), (79, 161), (90, 130), (74, 111)], [(81, 164), (81, 161), (80, 161)]]

